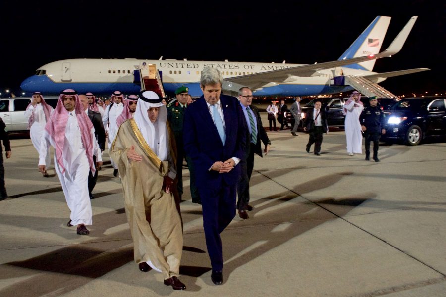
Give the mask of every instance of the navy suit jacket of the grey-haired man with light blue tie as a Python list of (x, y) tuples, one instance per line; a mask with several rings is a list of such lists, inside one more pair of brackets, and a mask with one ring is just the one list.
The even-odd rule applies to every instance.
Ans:
[(191, 104), (184, 114), (184, 150), (196, 169), (198, 188), (219, 189), (222, 180), (234, 185), (240, 175), (239, 165), (223, 174), (209, 170), (216, 161), (224, 162), (231, 157), (242, 159), (246, 148), (246, 121), (238, 100), (220, 95), (220, 101), (226, 133), (224, 146), (203, 96)]

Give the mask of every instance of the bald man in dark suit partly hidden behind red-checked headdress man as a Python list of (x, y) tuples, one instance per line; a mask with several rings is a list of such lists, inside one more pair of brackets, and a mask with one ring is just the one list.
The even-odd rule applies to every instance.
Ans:
[[(102, 116), (99, 112), (88, 109), (88, 97), (86, 95), (79, 95), (79, 100), (82, 102), (88, 118), (93, 123), (93, 127), (95, 128), (95, 137), (98, 141), (99, 148), (101, 148), (101, 151), (104, 151), (106, 140), (104, 124), (102, 123)], [(93, 156), (93, 164), (96, 164), (96, 156)], [(93, 188), (96, 186), (98, 171), (98, 168), (96, 168), (95, 175), (91, 174), (91, 171), (88, 174), (88, 193), (90, 194), (90, 199), (95, 198), (93, 194), (91, 194), (91, 191), (93, 191)]]

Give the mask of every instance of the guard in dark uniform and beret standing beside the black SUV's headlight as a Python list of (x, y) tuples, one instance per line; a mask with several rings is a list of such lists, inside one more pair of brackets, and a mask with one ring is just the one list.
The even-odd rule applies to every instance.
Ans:
[(369, 102), (370, 106), (364, 108), (359, 116), (362, 131), (365, 132), (365, 160), (370, 160), (370, 141), (373, 141), (373, 159), (375, 162), (379, 162), (378, 148), (380, 145), (380, 136), (386, 133), (386, 129), (384, 129), (385, 115), (381, 108), (377, 106), (378, 100), (376, 96), (370, 97)]

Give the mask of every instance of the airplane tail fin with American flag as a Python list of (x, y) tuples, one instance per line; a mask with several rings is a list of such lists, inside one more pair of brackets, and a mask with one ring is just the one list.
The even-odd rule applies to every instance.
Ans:
[[(377, 16), (338, 60), (379, 53), (387, 28), (389, 27), (390, 19), (391, 17), (389, 16)], [(375, 66), (375, 61), (373, 59), (344, 67), (372, 71), (373, 66)]]

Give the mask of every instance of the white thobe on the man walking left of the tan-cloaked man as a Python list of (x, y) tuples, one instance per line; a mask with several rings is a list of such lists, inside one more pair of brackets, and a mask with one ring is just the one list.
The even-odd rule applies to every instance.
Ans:
[[(95, 129), (90, 133), (93, 140), (93, 153), (97, 162), (102, 162), (101, 149), (95, 137)], [(50, 137), (48, 131), (44, 132), (42, 145), (40, 147), (39, 165), (45, 164), (45, 151), (48, 145), (55, 147), (54, 139)], [(62, 184), (63, 194), (65, 195), (68, 208), (71, 210), (70, 219), (72, 225), (91, 225), (92, 210), (90, 194), (88, 192), (88, 174), (90, 172), (90, 163), (87, 153), (82, 143), (79, 123), (75, 111), (69, 113), (65, 128), (65, 141), (62, 149), (63, 166), (65, 172), (57, 162), (56, 152), (54, 154), (54, 164), (57, 176)]]

